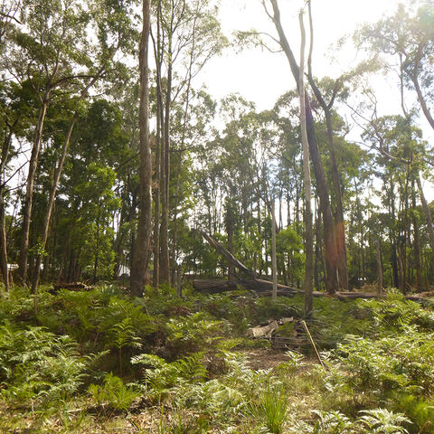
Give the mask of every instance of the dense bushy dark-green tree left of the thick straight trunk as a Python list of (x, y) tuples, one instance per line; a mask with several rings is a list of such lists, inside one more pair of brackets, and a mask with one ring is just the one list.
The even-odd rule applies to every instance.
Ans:
[[(127, 182), (122, 165), (133, 157), (129, 147), (131, 137), (123, 129), (125, 113), (117, 106), (107, 99), (96, 99), (80, 109), (61, 173), (50, 237), (43, 252), (46, 254), (42, 258), (45, 279), (69, 281), (80, 278), (80, 272), (86, 278), (111, 277), (116, 251), (114, 214), (119, 212), (121, 200), (124, 201), (122, 206), (128, 207), (125, 194), (119, 191)], [(73, 105), (72, 109), (75, 109)], [(41, 156), (38, 190), (42, 192), (52, 188), (52, 167), (61, 153), (63, 127), (68, 126), (69, 121), (68, 113), (55, 121), (47, 119), (46, 134), (52, 134), (52, 146)], [(34, 245), (38, 245), (34, 234), (38, 233), (39, 226), (41, 231), (43, 229), (47, 196), (44, 193), (41, 198), (39, 194), (35, 203)]]

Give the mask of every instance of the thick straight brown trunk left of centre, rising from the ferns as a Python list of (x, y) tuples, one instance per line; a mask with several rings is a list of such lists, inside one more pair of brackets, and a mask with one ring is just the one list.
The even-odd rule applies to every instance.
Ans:
[(131, 294), (143, 297), (146, 281), (147, 260), (151, 239), (152, 222), (152, 156), (149, 141), (149, 68), (148, 68), (148, 39), (150, 32), (151, 0), (143, 0), (142, 5), (142, 35), (139, 47), (140, 69), (140, 188), (139, 214), (137, 227), (137, 242), (131, 269)]

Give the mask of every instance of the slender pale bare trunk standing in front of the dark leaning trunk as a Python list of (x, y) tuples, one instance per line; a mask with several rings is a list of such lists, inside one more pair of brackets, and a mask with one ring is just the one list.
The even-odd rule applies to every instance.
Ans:
[(301, 48), (300, 48), (300, 70), (298, 76), (298, 91), (300, 97), (300, 124), (301, 124), (301, 142), (303, 145), (303, 172), (305, 184), (305, 280), (303, 288), (305, 290), (305, 316), (311, 316), (314, 308), (313, 302), (313, 278), (314, 278), (314, 232), (312, 226), (312, 187), (310, 181), (309, 165), (309, 144), (307, 139), (307, 119), (306, 119), (306, 96), (305, 96), (305, 45), (306, 33), (303, 24), (303, 13), (298, 15), (301, 30)]

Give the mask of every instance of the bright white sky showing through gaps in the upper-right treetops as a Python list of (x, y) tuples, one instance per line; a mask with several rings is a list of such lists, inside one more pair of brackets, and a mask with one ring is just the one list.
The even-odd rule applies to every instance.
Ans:
[[(237, 30), (255, 29), (276, 37), (274, 25), (265, 14), (261, 0), (221, 0), (220, 19), (223, 32), (229, 37)], [(269, 3), (269, 0), (265, 0)], [(407, 0), (408, 1), (408, 0)], [(374, 23), (384, 14), (393, 14), (399, 0), (312, 0), (314, 21), (313, 71), (317, 77), (338, 77), (359, 61), (351, 43), (354, 31), (364, 23)], [(279, 0), (281, 21), (291, 48), (299, 58), (298, 12), (304, 0)], [(307, 23), (307, 14), (305, 17)], [(345, 38), (349, 43), (340, 52), (334, 46)], [(215, 99), (221, 99), (231, 92), (238, 92), (244, 98), (256, 103), (259, 110), (271, 109), (280, 95), (294, 89), (295, 81), (290, 73), (288, 61), (283, 52), (270, 53), (260, 49), (245, 49), (235, 53), (228, 50), (222, 57), (210, 61), (200, 79)], [(401, 114), (401, 100), (398, 77), (376, 77), (373, 81), (379, 101), (380, 115)], [(414, 95), (407, 94), (409, 106)], [(420, 127), (427, 139), (432, 139), (431, 128), (427, 127), (423, 115)], [(426, 185), (429, 200), (434, 200), (434, 189)]]

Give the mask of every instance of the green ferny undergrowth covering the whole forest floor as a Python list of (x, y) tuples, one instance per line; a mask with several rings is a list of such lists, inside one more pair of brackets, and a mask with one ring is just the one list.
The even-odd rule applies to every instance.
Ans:
[[(41, 288), (37, 311), (26, 288), (1, 295), (2, 433), (434, 433), (428, 305), (316, 298), (307, 325), (323, 369), (300, 296), (52, 292)], [(246, 337), (282, 318), (280, 354)]]

